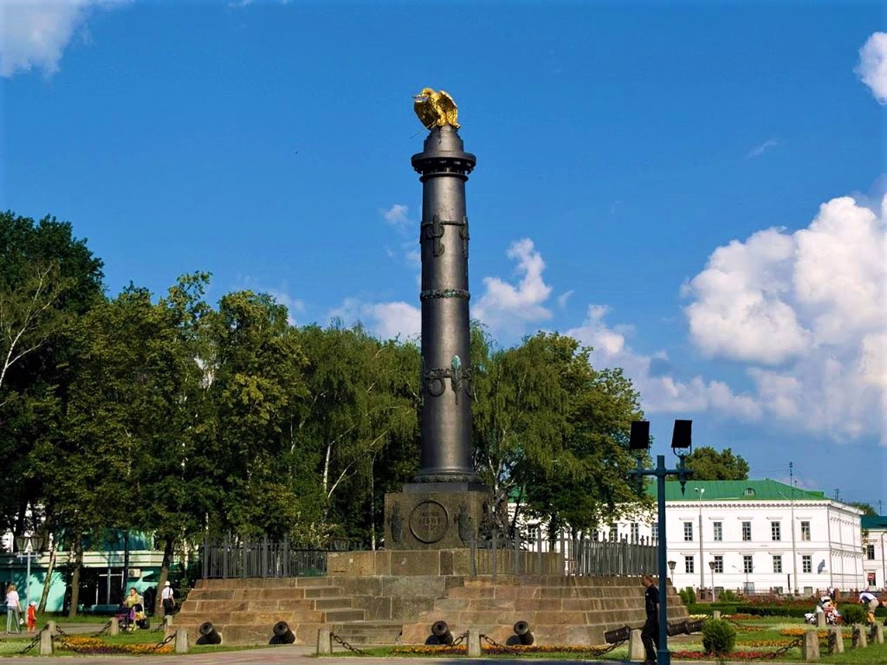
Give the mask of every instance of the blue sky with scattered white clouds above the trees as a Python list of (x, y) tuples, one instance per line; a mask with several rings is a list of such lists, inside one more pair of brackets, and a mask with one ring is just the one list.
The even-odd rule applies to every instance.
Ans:
[[(887, 500), (875, 2), (0, 7), (0, 207), (52, 214), (109, 293), (213, 273), (296, 324), (419, 329), (424, 130), (477, 155), (472, 316), (569, 332), (752, 476)], [(883, 512), (887, 512), (887, 508)]]

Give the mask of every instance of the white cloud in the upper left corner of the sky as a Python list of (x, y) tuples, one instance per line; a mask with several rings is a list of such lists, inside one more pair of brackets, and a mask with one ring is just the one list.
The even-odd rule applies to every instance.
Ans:
[(12, 0), (0, 4), (0, 74), (43, 69), (59, 71), (67, 44), (95, 7), (120, 4), (113, 0)]

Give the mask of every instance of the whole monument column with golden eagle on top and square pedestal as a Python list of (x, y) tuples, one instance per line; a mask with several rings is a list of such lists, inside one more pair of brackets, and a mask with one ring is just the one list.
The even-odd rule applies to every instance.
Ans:
[(449, 550), (478, 536), (490, 497), (471, 446), (465, 183), (476, 160), (463, 150), (452, 98), (426, 88), (415, 99), (428, 128), (424, 150), (412, 156), (422, 183), (421, 459), (413, 482), (385, 495), (385, 546)]

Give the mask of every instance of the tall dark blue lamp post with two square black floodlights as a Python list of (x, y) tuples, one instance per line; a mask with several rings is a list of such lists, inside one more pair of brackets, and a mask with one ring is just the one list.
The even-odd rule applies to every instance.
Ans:
[[(687, 478), (693, 474), (684, 465), (684, 458), (687, 457), (692, 448), (690, 429), (693, 425), (692, 420), (675, 420), (674, 432), (671, 434), (671, 450), (678, 456), (680, 462), (678, 468), (669, 469), (665, 466), (665, 456), (656, 456), (655, 469), (645, 469), (641, 461), (641, 453), (647, 452), (650, 448), (650, 424), (646, 420), (635, 420), (632, 422), (632, 435), (629, 439), (628, 448), (638, 453), (638, 465), (629, 473), (638, 479), (638, 489), (643, 491), (644, 476), (653, 475), (656, 478), (656, 505), (658, 508), (658, 534), (659, 544), (656, 557), (656, 573), (659, 577), (659, 645), (656, 649), (656, 662), (658, 665), (671, 665), (671, 652), (668, 650), (668, 584), (665, 577), (665, 567), (669, 566), (668, 561), (668, 537), (665, 534), (665, 477), (668, 475), (677, 475), (680, 482), (680, 493), (684, 494), (684, 487), (687, 484)], [(673, 565), (670, 566), (673, 570)]]

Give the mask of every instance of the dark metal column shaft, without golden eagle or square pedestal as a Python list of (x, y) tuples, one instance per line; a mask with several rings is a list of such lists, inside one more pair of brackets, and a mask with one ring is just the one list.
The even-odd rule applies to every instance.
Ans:
[(412, 156), (422, 182), (422, 411), (418, 482), (477, 480), (471, 449), (468, 218), (475, 155), (451, 125), (431, 129)]

